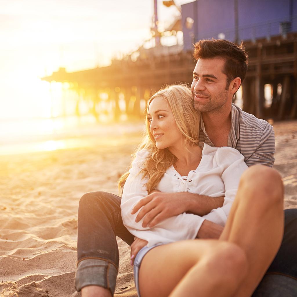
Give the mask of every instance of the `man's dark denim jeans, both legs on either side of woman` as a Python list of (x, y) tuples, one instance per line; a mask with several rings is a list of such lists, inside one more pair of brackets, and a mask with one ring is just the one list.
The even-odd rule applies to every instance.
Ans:
[[(78, 207), (76, 290), (88, 285), (114, 294), (119, 267), (116, 236), (131, 245), (134, 236), (122, 222), (121, 198), (106, 192), (87, 193)], [(282, 245), (253, 296), (296, 295), (297, 209), (285, 210)]]

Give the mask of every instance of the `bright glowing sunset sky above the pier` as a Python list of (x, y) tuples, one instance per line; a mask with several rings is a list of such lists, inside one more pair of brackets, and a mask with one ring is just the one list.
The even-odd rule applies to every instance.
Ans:
[[(0, 0), (0, 7), (2, 120), (47, 117), (49, 86), (39, 77), (106, 65), (151, 36), (153, 0)], [(161, 26), (174, 15), (158, 1)]]

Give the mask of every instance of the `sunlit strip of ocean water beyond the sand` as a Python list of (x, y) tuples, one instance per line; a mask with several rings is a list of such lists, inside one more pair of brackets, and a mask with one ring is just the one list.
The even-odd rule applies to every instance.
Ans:
[(92, 146), (142, 130), (143, 121), (98, 123), (93, 116), (0, 120), (0, 155)]

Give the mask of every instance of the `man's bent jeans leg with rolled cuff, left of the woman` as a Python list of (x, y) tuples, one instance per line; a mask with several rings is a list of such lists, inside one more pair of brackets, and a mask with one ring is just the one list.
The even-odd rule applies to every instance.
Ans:
[(121, 216), (121, 198), (106, 192), (84, 194), (78, 206), (76, 290), (88, 285), (114, 294), (119, 268), (116, 236), (131, 245), (134, 236)]

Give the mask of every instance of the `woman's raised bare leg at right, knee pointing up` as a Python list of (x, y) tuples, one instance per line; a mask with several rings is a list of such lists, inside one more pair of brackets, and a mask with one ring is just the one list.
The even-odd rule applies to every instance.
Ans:
[(282, 241), (283, 184), (276, 170), (263, 165), (249, 168), (220, 240), (241, 247), (249, 269), (235, 296), (251, 296), (273, 261)]

